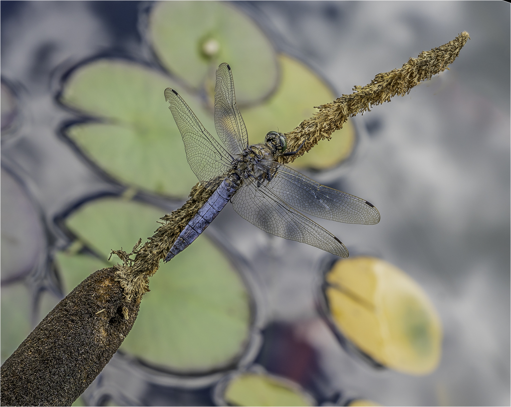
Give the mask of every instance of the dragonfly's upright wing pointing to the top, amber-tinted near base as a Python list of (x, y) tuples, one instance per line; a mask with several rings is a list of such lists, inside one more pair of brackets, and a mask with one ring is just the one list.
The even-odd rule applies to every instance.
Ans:
[(217, 69), (215, 129), (231, 155), (236, 156), (248, 147), (245, 123), (236, 106), (233, 73), (225, 62)]

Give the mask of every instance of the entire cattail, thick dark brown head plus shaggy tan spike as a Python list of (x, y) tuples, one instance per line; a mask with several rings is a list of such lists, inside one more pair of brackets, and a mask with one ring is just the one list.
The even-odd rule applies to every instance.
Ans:
[[(355, 86), (353, 93), (319, 106), (313, 117), (286, 134), (290, 151), (305, 143), (298, 154), (281, 161), (293, 161), (319, 141), (329, 140), (348, 117), (403, 96), (449, 69), (468, 39), (469, 34), (462, 32), (447, 44), (410, 58), (399, 69), (379, 73), (368, 85)], [(2, 405), (70, 405), (78, 398), (129, 333), (149, 290), (149, 277), (212, 191), (195, 185), (190, 199), (162, 217), (165, 223), (142, 247), (139, 240), (131, 253), (112, 251), (122, 265), (96, 271), (57, 304), (2, 366)]]

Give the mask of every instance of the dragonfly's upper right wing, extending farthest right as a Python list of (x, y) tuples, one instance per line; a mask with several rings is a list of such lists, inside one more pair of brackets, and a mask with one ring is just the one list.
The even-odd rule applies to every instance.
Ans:
[(284, 164), (263, 160), (259, 173), (269, 174), (268, 188), (287, 204), (318, 218), (344, 223), (373, 225), (378, 210), (364, 199), (326, 187)]

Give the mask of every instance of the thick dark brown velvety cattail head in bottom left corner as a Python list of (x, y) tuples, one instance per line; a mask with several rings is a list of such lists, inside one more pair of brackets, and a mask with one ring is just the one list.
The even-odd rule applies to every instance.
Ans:
[(73, 404), (121, 346), (139, 306), (113, 267), (88, 276), (4, 362), (1, 404)]

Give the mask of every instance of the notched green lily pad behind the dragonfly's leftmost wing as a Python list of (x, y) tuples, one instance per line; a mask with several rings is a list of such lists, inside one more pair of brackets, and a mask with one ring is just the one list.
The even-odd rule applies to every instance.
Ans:
[(103, 121), (71, 126), (66, 134), (115, 179), (186, 196), (197, 177), (165, 101), (169, 86), (179, 89), (204, 126), (214, 131), (212, 115), (165, 75), (129, 61), (97, 60), (77, 68), (64, 85), (61, 101)]

